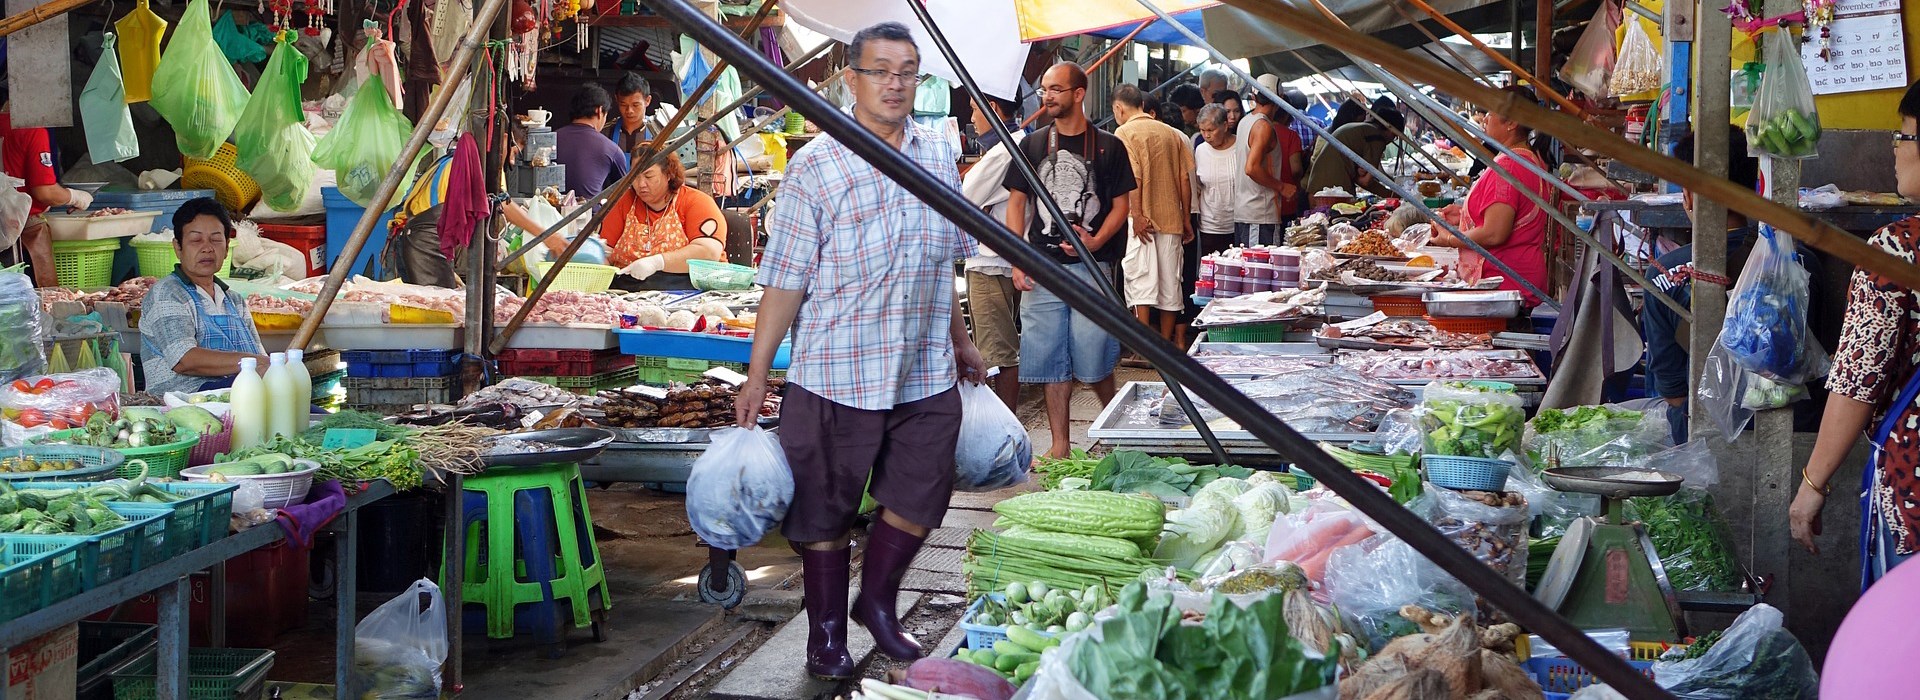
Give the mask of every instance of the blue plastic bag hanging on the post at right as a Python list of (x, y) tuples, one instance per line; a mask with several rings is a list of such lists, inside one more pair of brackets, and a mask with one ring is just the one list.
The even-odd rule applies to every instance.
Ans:
[(1830, 362), (1807, 328), (1807, 286), (1809, 274), (1793, 253), (1793, 238), (1763, 224), (1720, 326), (1728, 357), (1778, 382), (1801, 384), (1824, 376)]

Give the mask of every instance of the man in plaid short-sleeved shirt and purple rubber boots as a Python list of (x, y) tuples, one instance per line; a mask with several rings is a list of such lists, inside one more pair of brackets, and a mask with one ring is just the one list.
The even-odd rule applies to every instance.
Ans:
[[(960, 186), (960, 153), (910, 121), (920, 48), (900, 23), (847, 44), (852, 117)], [(900, 577), (952, 497), (960, 437), (956, 378), (979, 382), (979, 351), (954, 303), (954, 261), (977, 245), (947, 217), (833, 136), (795, 153), (768, 222), (766, 286), (735, 420), (755, 426), (780, 343), (793, 339), (780, 443), (793, 470), (781, 533), (801, 550), (806, 671), (847, 679), (847, 619), (895, 660), (925, 654), (895, 616)], [(868, 487), (872, 479), (872, 487)], [(879, 502), (847, 606), (849, 537), (862, 491)]]

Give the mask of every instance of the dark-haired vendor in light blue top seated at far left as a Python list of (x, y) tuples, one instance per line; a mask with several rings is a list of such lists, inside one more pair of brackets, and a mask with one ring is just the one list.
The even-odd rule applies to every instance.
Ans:
[(232, 385), (240, 361), (267, 366), (246, 297), (213, 276), (227, 261), (234, 224), (213, 198), (188, 199), (173, 213), (173, 253), (180, 265), (154, 282), (140, 303), (140, 355), (146, 391), (204, 391)]

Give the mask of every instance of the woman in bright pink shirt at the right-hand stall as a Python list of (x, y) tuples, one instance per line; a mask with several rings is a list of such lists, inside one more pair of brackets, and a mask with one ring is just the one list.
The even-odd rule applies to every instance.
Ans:
[[(1509, 86), (1507, 92), (1523, 96), (1532, 102), (1534, 96), (1526, 88)], [(1534, 130), (1519, 121), (1507, 119), (1505, 115), (1488, 113), (1486, 115), (1486, 134), (1507, 146), (1521, 157), (1534, 161), (1546, 169), (1546, 163), (1532, 150)], [(1553, 201), (1553, 190), (1538, 175), (1521, 165), (1513, 155), (1501, 153), (1494, 159), (1494, 165), (1513, 175), (1519, 184), (1507, 180), (1496, 171), (1486, 171), (1473, 188), (1467, 190), (1467, 205), (1450, 205), (1440, 211), (1448, 222), (1459, 226), (1467, 238), (1475, 244), (1486, 247), (1501, 263), (1507, 263), (1515, 272), (1532, 282), (1536, 288), (1546, 290), (1548, 286), (1548, 222), (1551, 217), (1534, 203), (1534, 199), (1523, 194), (1532, 190), (1546, 201)], [(1523, 190), (1524, 188), (1524, 190)], [(1453, 234), (1446, 230), (1434, 232), (1434, 245), (1448, 247), (1467, 247)], [(1463, 251), (1461, 255), (1471, 255)], [(1498, 274), (1488, 270), (1488, 274)], [(1523, 292), (1515, 280), (1503, 280), (1501, 290)], [(1540, 305), (1540, 299), (1532, 293), (1524, 293), (1526, 307), (1532, 309)]]

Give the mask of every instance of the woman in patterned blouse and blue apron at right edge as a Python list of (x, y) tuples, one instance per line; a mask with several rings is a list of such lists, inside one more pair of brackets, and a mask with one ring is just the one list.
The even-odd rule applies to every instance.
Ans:
[[(1920, 198), (1920, 82), (1901, 98), (1901, 130), (1893, 134), (1899, 194)], [(1893, 222), (1872, 245), (1912, 263), (1920, 249), (1920, 217)], [(1860, 476), (1860, 589), (1920, 550), (1920, 292), (1880, 274), (1855, 270), (1847, 292), (1832, 395), (1820, 437), (1788, 510), (1793, 539), (1818, 552), (1820, 508), (1834, 491), (1841, 460), (1862, 430), (1874, 451)]]

